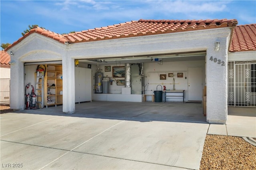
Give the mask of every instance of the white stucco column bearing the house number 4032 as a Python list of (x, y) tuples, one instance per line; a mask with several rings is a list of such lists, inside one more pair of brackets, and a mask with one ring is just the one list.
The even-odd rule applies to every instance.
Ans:
[(222, 39), (220, 49), (207, 49), (206, 53), (206, 120), (226, 124), (228, 117), (228, 41)]

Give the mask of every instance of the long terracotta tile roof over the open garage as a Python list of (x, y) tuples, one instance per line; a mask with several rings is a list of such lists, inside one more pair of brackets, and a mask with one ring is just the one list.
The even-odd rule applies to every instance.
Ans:
[(205, 30), (212, 28), (224, 28), (233, 27), (238, 24), (237, 20), (138, 20), (125, 22), (121, 24), (115, 24), (112, 26), (95, 28), (91, 30), (85, 30), (82, 32), (76, 32), (72, 34), (56, 34), (49, 30), (42, 28), (31, 29), (18, 41), (7, 47), (5, 51), (10, 47), (18, 44), (24, 38), (32, 33), (38, 33), (43, 36), (57, 40), (60, 43), (78, 43), (78, 42), (91, 42), (99, 40), (110, 40), (116, 38), (128, 38), (136, 36), (148, 36), (154, 34), (165, 34), (173, 32), (185, 32), (194, 30)]

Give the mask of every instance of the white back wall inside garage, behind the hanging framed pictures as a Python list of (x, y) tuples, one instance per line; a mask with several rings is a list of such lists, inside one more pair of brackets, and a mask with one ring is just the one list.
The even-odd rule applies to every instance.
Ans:
[[(173, 89), (173, 78), (175, 79), (175, 89), (176, 90), (185, 90), (184, 100), (188, 100), (188, 67), (202, 67), (203, 77), (202, 77), (202, 89), (205, 85), (205, 60), (199, 61), (175, 61), (175, 62), (156, 62), (152, 61), (150, 63), (144, 63), (143, 73), (144, 73), (144, 86), (145, 86), (145, 94), (154, 94), (157, 85), (165, 85), (166, 89)], [(129, 63), (129, 62), (128, 62)], [(132, 63), (131, 63), (132, 64)], [(110, 65), (111, 71), (104, 71), (106, 65), (99, 65), (100, 72), (103, 73), (104, 77), (110, 77), (111, 79), (124, 79), (124, 78), (113, 78), (112, 77), (112, 67), (116, 66), (124, 66), (124, 64), (120, 65)], [(95, 73), (97, 72), (97, 65), (92, 65), (92, 88), (95, 83)], [(174, 77), (168, 77), (168, 73), (174, 73)], [(178, 73), (183, 73), (183, 77), (177, 77)], [(165, 74), (166, 80), (160, 80), (159, 75)], [(185, 78), (187, 77), (187, 79)], [(116, 81), (112, 82), (112, 85), (109, 85), (109, 93), (111, 94), (121, 94), (122, 87), (124, 85), (116, 85)], [(160, 88), (158, 87), (158, 90)], [(92, 91), (94, 93), (94, 91)]]

